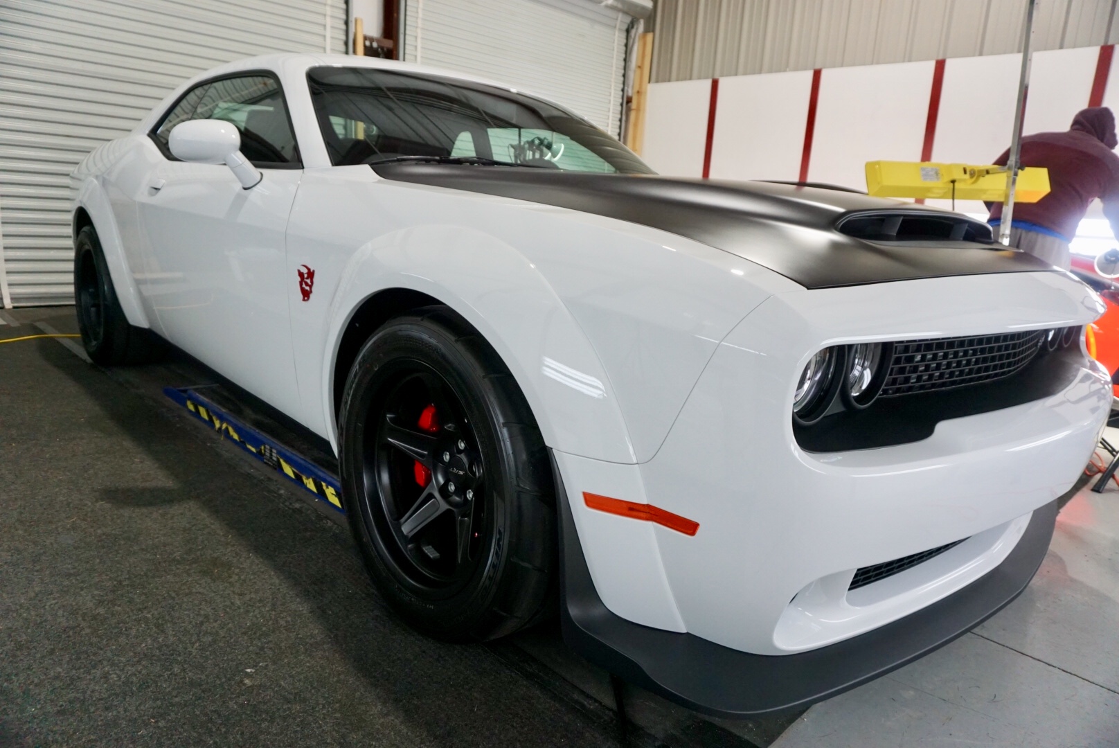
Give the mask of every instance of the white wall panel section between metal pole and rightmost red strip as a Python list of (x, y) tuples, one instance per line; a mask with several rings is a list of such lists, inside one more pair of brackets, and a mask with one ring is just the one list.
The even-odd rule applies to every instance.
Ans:
[(1099, 47), (1051, 49), (1033, 56), (1024, 134), (1069, 129), (1073, 115), (1088, 106), (1099, 56)]

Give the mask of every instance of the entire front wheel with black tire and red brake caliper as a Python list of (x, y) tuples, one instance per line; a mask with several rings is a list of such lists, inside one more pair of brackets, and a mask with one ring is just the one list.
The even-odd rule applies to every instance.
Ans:
[(508, 368), (463, 320), (430, 307), (377, 330), (350, 370), (339, 443), (354, 537), (408, 624), (485, 641), (546, 611), (547, 451)]

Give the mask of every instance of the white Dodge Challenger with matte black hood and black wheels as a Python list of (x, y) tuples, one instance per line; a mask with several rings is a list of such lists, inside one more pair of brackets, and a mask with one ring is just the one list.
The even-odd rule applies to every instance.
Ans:
[(94, 362), (159, 336), (329, 440), (419, 629), (558, 604), (576, 652), (713, 714), (833, 695), (1014, 599), (1111, 402), (1099, 298), (985, 224), (658, 177), (467, 76), (233, 63), (73, 179)]

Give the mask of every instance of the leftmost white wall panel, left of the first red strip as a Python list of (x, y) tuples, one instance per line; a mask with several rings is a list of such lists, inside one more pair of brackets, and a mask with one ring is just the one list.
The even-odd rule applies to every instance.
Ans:
[(702, 177), (711, 81), (649, 85), (641, 158), (659, 174)]

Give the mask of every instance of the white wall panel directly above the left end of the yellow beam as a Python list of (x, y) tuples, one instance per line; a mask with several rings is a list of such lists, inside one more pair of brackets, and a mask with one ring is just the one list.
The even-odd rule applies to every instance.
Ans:
[(932, 62), (824, 71), (809, 180), (866, 189), (867, 161), (918, 160), (932, 71)]

